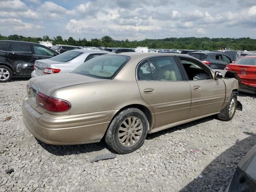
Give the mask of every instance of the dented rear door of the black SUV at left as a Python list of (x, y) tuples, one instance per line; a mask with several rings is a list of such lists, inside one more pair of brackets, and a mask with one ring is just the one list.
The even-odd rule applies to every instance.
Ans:
[(31, 76), (33, 67), (33, 54), (27, 43), (10, 43), (6, 53), (6, 61), (16, 70), (17, 76)]

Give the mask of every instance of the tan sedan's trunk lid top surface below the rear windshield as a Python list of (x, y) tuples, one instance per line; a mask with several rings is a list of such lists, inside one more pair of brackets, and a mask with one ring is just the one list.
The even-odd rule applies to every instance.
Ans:
[(106, 79), (97, 79), (80, 74), (64, 73), (32, 78), (28, 81), (28, 84), (31, 84), (33, 87), (38, 88), (38, 91), (50, 96), (52, 92), (60, 88), (105, 80)]

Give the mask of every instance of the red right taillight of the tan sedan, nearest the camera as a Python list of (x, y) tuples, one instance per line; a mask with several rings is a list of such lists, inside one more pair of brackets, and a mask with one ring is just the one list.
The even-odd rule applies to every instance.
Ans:
[(70, 103), (61, 99), (53, 98), (38, 92), (36, 95), (36, 103), (41, 108), (50, 112), (66, 112), (70, 110)]

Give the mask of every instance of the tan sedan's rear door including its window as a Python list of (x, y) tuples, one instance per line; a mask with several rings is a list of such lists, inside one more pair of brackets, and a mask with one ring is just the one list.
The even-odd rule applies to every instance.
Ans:
[(188, 116), (191, 89), (180, 70), (173, 56), (152, 57), (138, 66), (140, 94), (154, 109), (155, 128)]

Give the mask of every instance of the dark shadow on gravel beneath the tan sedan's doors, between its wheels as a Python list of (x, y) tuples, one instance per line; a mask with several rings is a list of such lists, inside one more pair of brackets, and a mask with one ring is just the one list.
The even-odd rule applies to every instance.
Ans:
[[(175, 131), (185, 131), (186, 132), (186, 128), (189, 128), (189, 127), (192, 127), (192, 126), (197, 126), (200, 123), (204, 123), (204, 122), (214, 120), (215, 117), (216, 116), (214, 116), (214, 115), (209, 116), (209, 117), (205, 117), (205, 118), (195, 120), (195, 121), (192, 121), (192, 122), (189, 122), (189, 123), (186, 123), (186, 124), (181, 124), (181, 125), (178, 125), (178, 126), (175, 126), (175, 127), (172, 127), (172, 128), (168, 128), (168, 129), (156, 132), (156, 133), (148, 134), (147, 137), (146, 137), (146, 140), (151, 140), (151, 139), (157, 138), (161, 135), (169, 134), (169, 133), (172, 133), (172, 132), (175, 132)], [(200, 128), (199, 125), (198, 125), (198, 128)]]

